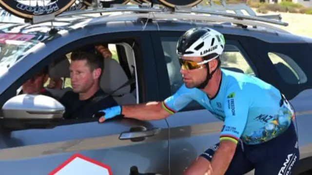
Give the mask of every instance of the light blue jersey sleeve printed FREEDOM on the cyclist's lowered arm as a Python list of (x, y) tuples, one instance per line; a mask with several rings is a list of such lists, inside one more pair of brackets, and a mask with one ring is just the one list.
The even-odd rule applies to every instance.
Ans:
[(240, 87), (230, 88), (225, 95), (225, 120), (221, 130), (220, 141), (238, 142), (242, 135), (249, 112), (251, 94), (243, 92)]

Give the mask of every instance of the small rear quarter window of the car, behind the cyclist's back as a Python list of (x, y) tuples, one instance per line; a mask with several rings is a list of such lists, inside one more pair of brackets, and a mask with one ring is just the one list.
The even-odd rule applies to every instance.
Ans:
[(269, 52), (268, 56), (285, 82), (288, 84), (307, 82), (307, 76), (292, 58), (276, 52)]

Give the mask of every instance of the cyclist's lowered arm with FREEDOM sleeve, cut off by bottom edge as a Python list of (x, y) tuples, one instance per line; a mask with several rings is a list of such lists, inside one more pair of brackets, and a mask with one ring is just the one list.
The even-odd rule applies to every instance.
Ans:
[(224, 103), (225, 121), (220, 135), (219, 148), (215, 152), (211, 166), (214, 175), (224, 175), (234, 156), (239, 137), (247, 122), (249, 94), (239, 87), (226, 93)]

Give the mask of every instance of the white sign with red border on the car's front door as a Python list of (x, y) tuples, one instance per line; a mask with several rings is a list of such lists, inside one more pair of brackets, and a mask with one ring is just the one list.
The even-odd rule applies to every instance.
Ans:
[(49, 175), (113, 175), (108, 165), (89, 157), (75, 154)]

